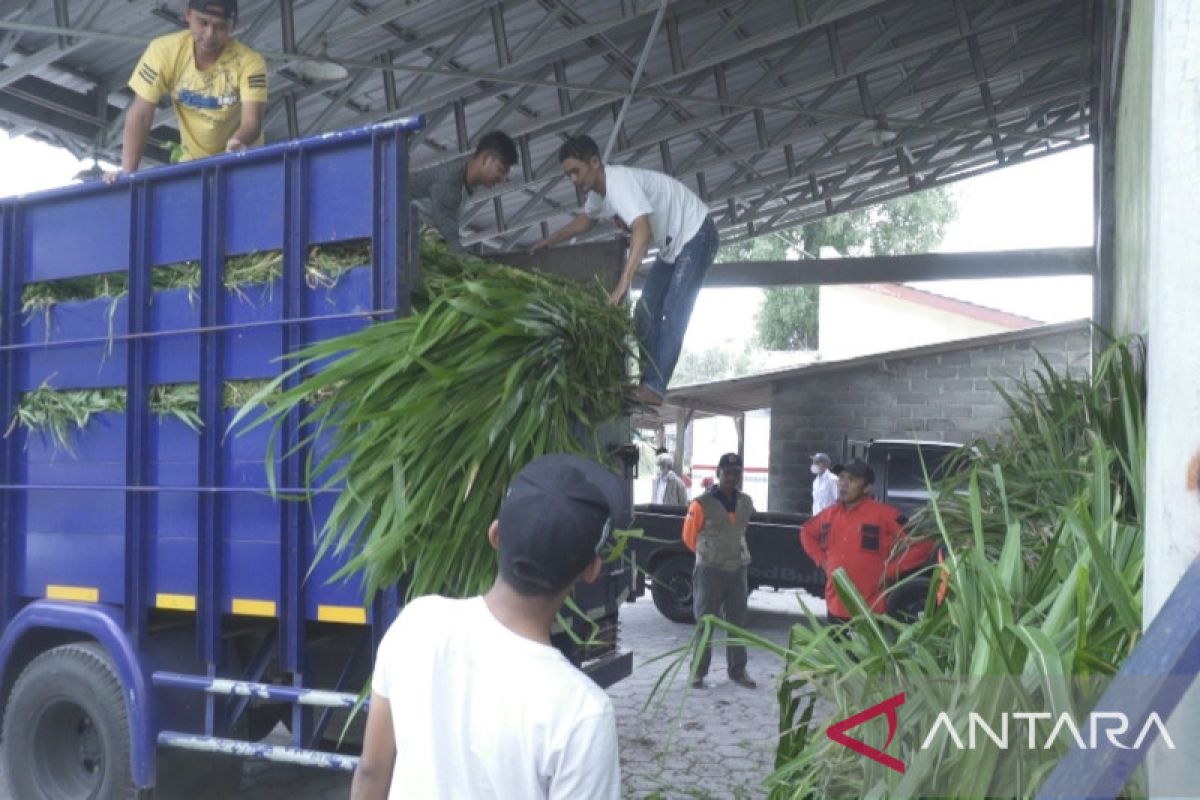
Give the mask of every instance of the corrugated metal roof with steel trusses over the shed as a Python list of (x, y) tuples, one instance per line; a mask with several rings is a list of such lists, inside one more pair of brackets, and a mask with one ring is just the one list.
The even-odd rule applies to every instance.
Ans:
[[(182, 5), (0, 1), (0, 122), (114, 157), (128, 74)], [(239, 37), (272, 68), (269, 139), (420, 113), (419, 167), (493, 127), (517, 137), (526, 163), (473, 199), (467, 236), (512, 248), (576, 207), (558, 145), (607, 139), (659, 0), (241, 7)], [(732, 241), (1036, 158), (1088, 142), (1097, 13), (1096, 0), (673, 0), (612, 161), (678, 175)], [(286, 52), (349, 76), (306, 83)], [(172, 114), (160, 122), (169, 136)]]

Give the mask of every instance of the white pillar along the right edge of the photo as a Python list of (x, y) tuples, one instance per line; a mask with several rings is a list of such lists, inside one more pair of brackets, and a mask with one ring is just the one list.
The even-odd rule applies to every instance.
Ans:
[[(1151, 101), (1150, 408), (1146, 573), (1148, 626), (1200, 555), (1200, 2), (1158, 0)], [(1194, 481), (1195, 477), (1192, 479)], [(1195, 620), (1178, 620), (1195, 624)], [(1169, 720), (1175, 741), (1200, 741), (1200, 687)], [(1195, 787), (1188, 757), (1152, 751), (1151, 795)]]

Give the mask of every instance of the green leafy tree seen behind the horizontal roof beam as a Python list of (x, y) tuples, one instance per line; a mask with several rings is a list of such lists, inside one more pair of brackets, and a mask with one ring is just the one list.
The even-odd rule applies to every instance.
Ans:
[[(936, 187), (728, 245), (721, 248), (719, 260), (820, 258), (822, 247), (833, 247), (842, 255), (928, 253), (942, 241), (956, 213), (954, 197)], [(767, 289), (755, 320), (758, 345), (768, 350), (815, 349), (817, 297), (815, 285)]]

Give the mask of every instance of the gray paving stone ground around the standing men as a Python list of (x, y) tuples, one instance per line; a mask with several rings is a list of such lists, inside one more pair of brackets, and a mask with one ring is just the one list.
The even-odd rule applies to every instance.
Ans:
[[(818, 614), (824, 603), (803, 593), (760, 590), (750, 596), (749, 628), (785, 643), (803, 619), (800, 602)], [(629, 800), (742, 800), (764, 798), (778, 723), (775, 686), (780, 662), (750, 651), (757, 690), (731, 682), (724, 648), (713, 654), (708, 687), (689, 691), (683, 676), (660, 690), (646, 708), (655, 682), (672, 661), (658, 658), (683, 648), (691, 626), (671, 622), (649, 596), (622, 609), (622, 645), (634, 651), (634, 674), (608, 690), (617, 710), (622, 782)], [(348, 775), (302, 766), (246, 763), (241, 789), (230, 800), (344, 800)], [(0, 771), (0, 796), (11, 800)]]

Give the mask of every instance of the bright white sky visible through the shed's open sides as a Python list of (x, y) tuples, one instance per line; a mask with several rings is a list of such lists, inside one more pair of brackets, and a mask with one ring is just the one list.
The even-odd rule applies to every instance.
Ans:
[[(0, 194), (53, 188), (90, 162), (66, 150), (0, 132)], [(1078, 247), (1092, 243), (1092, 149), (1075, 148), (1056, 156), (1007, 167), (950, 185), (958, 218), (938, 252)], [(916, 287), (1001, 311), (1055, 323), (1091, 314), (1091, 278), (1084, 276), (940, 281)], [(684, 348), (745, 347), (754, 335), (758, 289), (706, 289), (692, 312)], [(720, 325), (710, 320), (745, 319)]]

